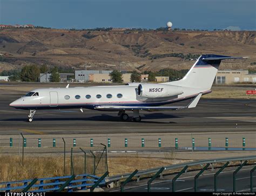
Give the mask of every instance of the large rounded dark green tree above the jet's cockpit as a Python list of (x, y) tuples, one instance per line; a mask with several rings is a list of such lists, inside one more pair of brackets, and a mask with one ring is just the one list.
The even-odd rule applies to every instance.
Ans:
[(21, 71), (21, 80), (23, 82), (37, 82), (40, 76), (40, 69), (37, 65), (25, 65)]

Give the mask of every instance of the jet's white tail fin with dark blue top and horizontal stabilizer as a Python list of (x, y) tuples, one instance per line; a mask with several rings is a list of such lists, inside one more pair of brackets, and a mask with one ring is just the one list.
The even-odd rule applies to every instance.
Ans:
[(217, 75), (221, 60), (224, 59), (238, 59), (248, 57), (230, 57), (222, 55), (201, 55), (197, 62), (191, 67), (190, 71), (183, 79), (169, 82), (165, 84), (172, 84), (184, 87), (193, 87), (197, 89), (210, 90)]

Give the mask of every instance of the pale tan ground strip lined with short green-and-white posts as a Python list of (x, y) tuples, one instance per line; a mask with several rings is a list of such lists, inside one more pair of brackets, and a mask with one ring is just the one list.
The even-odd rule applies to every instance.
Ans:
[[(161, 133), (161, 134), (101, 134), (98, 135), (79, 135), (77, 137), (59, 137), (45, 135), (25, 135), (18, 136), (1, 136), (1, 147), (18, 148), (19, 153), (22, 151), (23, 140), (25, 147), (30, 148), (60, 148), (60, 147), (84, 147), (93, 149), (96, 145), (104, 144), (106, 148), (156, 148), (165, 147), (173, 149), (193, 148), (193, 147), (224, 147), (228, 148), (255, 148), (256, 135), (254, 133)], [(63, 140), (64, 139), (64, 140)], [(246, 150), (246, 149), (244, 149)], [(10, 152), (12, 152), (10, 150)]]

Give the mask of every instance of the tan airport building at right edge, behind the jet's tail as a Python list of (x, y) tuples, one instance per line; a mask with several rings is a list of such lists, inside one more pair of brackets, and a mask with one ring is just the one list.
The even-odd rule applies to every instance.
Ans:
[(219, 70), (215, 77), (215, 84), (256, 83), (256, 74), (249, 74), (248, 70)]

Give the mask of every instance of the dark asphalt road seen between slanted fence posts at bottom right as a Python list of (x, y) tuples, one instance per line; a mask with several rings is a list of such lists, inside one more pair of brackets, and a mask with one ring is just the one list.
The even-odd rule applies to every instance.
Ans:
[[(202, 167), (203, 168), (203, 167)], [(238, 167), (225, 168), (217, 177), (217, 192), (233, 192), (233, 172)], [(250, 192), (250, 171), (253, 166), (244, 166), (236, 175), (236, 190), (240, 192)], [(214, 173), (218, 169), (204, 171), (203, 175), (197, 180), (197, 192), (214, 192)], [(176, 181), (177, 192), (194, 192), (194, 176), (199, 171), (187, 172), (182, 174)], [(151, 192), (172, 192), (172, 179), (175, 175), (167, 175), (163, 179), (157, 178), (151, 184)], [(256, 191), (256, 174), (253, 175), (254, 191)], [(125, 192), (147, 192), (147, 181), (149, 179), (140, 180), (139, 183), (132, 181), (125, 186)], [(110, 192), (119, 192), (120, 188), (109, 190)]]

